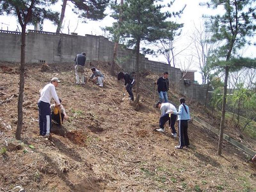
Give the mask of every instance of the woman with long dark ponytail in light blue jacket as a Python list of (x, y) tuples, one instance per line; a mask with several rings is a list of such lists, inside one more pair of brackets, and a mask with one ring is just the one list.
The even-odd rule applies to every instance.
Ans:
[(179, 111), (171, 111), (170, 113), (178, 115), (179, 120), (179, 138), (180, 145), (175, 146), (177, 149), (182, 149), (184, 146), (189, 148), (189, 139), (188, 139), (188, 120), (190, 120), (189, 108), (185, 105), (185, 99), (180, 98)]

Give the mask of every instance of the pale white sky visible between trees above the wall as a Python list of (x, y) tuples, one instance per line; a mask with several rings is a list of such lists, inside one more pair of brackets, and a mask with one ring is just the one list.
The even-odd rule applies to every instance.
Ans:
[[(117, 0), (117, 2), (120, 0)], [(164, 0), (164, 2), (169, 2), (168, 0)], [(187, 5), (181, 18), (177, 18), (177, 22), (184, 23), (184, 27), (182, 28), (182, 34), (179, 38), (179, 42), (175, 45), (176, 52), (179, 52), (184, 47), (191, 42), (189, 36), (193, 33), (195, 26), (200, 26), (200, 24), (204, 23), (202, 19), (203, 14), (216, 14), (216, 12), (221, 12), (221, 10), (210, 10), (204, 6), (200, 6), (200, 2), (205, 2), (205, 0), (176, 0), (173, 6), (171, 7), (171, 11), (179, 11), (185, 4)], [(61, 10), (61, 1), (55, 4), (52, 7), (52, 10), (60, 11)], [(109, 9), (106, 10), (106, 14), (110, 12)], [(92, 35), (105, 35), (101, 28), (106, 26), (111, 26), (113, 19), (110, 16), (106, 16), (103, 20), (100, 21), (90, 21), (87, 20), (86, 23), (83, 22), (82, 19), (78, 19), (77, 15), (72, 12), (72, 3), (68, 2), (65, 12), (64, 18), (64, 28), (62, 29), (62, 33), (68, 33), (68, 25), (69, 25), (69, 32), (76, 32), (78, 35), (84, 36), (85, 34), (92, 34)], [(78, 23), (78, 25), (77, 25)], [(19, 24), (17, 23), (17, 19), (11, 16), (0, 16), (0, 27), (3, 30), (12, 30), (15, 31), (18, 27), (20, 29)], [(48, 20), (44, 21), (43, 30), (49, 32), (56, 32), (57, 26), (52, 25), (52, 23)], [(33, 26), (28, 26), (28, 29), (34, 29)], [(191, 59), (191, 52), (192, 47), (183, 51), (179, 56), (178, 60), (180, 63), (186, 63), (187, 60)], [(244, 49), (244, 54), (246, 56), (252, 57), (255, 48), (252, 49), (251, 47), (246, 47)], [(147, 55), (150, 60), (156, 60), (161, 62), (166, 62), (163, 56), (160, 57), (153, 57), (151, 55)], [(198, 66), (196, 62), (193, 62), (193, 65), (190, 69), (198, 70)], [(195, 79), (201, 83), (201, 75), (199, 72), (195, 74)]]

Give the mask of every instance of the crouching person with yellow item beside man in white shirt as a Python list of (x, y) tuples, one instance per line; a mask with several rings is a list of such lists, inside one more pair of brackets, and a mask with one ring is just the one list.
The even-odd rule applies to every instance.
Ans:
[[(59, 98), (59, 101), (60, 101), (60, 106), (59, 107), (56, 105), (56, 102), (55, 102), (55, 104), (52, 104), (50, 106), (50, 108), (51, 108), (53, 123), (60, 125), (60, 115), (61, 115), (61, 122), (63, 122), (63, 120), (67, 120), (68, 116), (65, 112), (65, 109), (64, 109), (63, 105), (61, 105), (61, 99), (60, 98)], [(60, 110), (60, 114), (59, 114), (59, 110)]]

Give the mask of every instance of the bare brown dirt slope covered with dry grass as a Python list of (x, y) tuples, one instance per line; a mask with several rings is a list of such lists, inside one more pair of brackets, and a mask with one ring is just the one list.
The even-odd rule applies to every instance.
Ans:
[[(255, 165), (227, 142), (223, 156), (216, 156), (218, 137), (199, 124), (189, 124), (192, 145), (183, 150), (174, 149), (178, 139), (169, 129), (154, 131), (160, 114), (149, 89), (155, 76), (141, 77), (141, 108), (135, 111), (128, 96), (121, 100), (123, 82), (108, 74), (108, 64), (91, 65), (105, 74), (103, 88), (75, 85), (70, 64), (50, 65), (46, 72), (26, 66), (24, 127), (17, 141), (18, 65), (0, 63), (0, 101), (14, 95), (0, 104), (0, 191), (256, 191)], [(66, 136), (52, 134), (50, 141), (39, 136), (37, 100), (53, 76), (62, 81), (57, 93), (69, 120)]]

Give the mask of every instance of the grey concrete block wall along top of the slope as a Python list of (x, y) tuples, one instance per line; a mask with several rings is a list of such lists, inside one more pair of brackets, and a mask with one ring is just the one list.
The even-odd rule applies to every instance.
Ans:
[[(21, 34), (0, 30), (0, 42), (0, 60), (19, 62)], [(113, 49), (114, 43), (103, 36), (78, 36), (29, 30), (26, 35), (25, 61), (27, 63), (74, 62), (76, 54), (85, 52), (87, 60), (111, 62)], [(117, 61), (126, 72), (136, 70), (136, 53), (121, 44), (118, 47)], [(140, 71), (151, 71), (159, 75), (168, 71), (171, 86), (178, 88), (190, 99), (204, 103), (206, 89), (196, 84), (185, 86), (179, 68), (148, 60), (141, 54)]]

